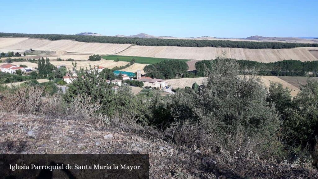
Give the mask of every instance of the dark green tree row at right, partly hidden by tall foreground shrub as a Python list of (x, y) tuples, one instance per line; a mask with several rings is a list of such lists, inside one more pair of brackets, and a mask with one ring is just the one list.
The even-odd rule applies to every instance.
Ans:
[[(232, 59), (235, 60), (235, 59)], [(196, 75), (206, 76), (208, 70), (213, 68), (213, 64), (218, 61), (203, 60), (195, 64)], [(250, 60), (237, 60), (240, 73), (242, 75), (275, 75), (275, 76), (317, 76), (318, 61), (283, 60), (270, 63), (263, 63)], [(311, 72), (312, 74), (309, 74)]]

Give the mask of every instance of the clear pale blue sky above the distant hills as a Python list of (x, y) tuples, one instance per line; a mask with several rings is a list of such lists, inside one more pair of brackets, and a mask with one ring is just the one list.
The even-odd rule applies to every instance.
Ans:
[(12, 0), (0, 32), (246, 38), (318, 36), (318, 0)]

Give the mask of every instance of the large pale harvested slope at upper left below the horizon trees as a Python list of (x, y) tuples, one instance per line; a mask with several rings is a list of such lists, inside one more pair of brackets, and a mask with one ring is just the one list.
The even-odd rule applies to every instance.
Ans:
[(86, 43), (73, 40), (40, 40), (28, 38), (0, 38), (0, 48), (18, 50), (49, 50), (66, 51), (88, 54), (115, 54), (126, 48), (130, 44), (105, 44), (105, 43)]

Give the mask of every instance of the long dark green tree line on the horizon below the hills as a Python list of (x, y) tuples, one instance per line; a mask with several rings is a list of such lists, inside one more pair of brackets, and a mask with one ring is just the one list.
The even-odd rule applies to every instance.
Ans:
[(62, 40), (72, 39), (79, 42), (98, 42), (114, 44), (135, 44), (141, 46), (176, 46), (176, 47), (231, 47), (231, 48), (295, 48), (318, 47), (318, 44), (285, 43), (285, 42), (252, 42), (231, 40), (194, 40), (194, 39), (151, 39), (151, 38), (126, 38), (111, 36), (85, 36), (64, 34), (26, 34), (26, 33), (0, 33), (0, 37), (29, 37), (36, 39)]

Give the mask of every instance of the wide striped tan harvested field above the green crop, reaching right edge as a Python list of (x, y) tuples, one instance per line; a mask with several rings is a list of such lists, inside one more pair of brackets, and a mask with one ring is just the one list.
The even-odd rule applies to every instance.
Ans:
[(293, 49), (246, 49), (246, 48), (216, 48), (216, 47), (148, 47), (131, 46), (118, 55), (207, 60), (215, 59), (225, 54), (225, 58), (252, 60), (259, 62), (274, 62), (282, 60), (315, 61), (318, 60), (308, 50), (315, 47), (300, 47)]

